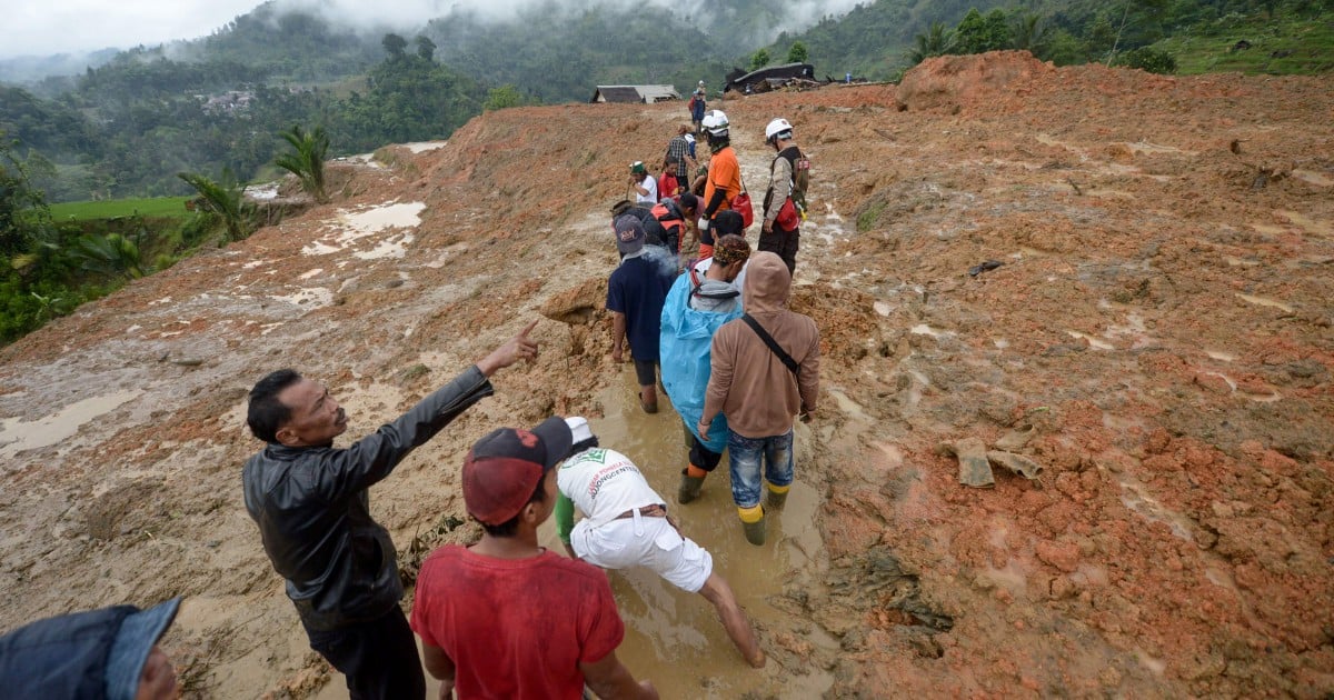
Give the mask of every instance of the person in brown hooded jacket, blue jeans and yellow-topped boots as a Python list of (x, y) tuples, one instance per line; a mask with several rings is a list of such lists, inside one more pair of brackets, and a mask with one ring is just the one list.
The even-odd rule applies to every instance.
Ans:
[(782, 257), (767, 251), (751, 256), (742, 288), (746, 313), (714, 333), (696, 425), (707, 441), (714, 417), (727, 416), (732, 500), (747, 541), (756, 545), (766, 533), (763, 483), (770, 509), (782, 508), (794, 479), (792, 416), (810, 420), (819, 396), (820, 333), (810, 316), (787, 309), (791, 288)]

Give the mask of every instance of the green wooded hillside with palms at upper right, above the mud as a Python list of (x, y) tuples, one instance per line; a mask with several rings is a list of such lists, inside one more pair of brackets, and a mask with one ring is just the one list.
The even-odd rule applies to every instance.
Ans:
[(872, 80), (930, 56), (1011, 48), (1057, 65), (1315, 73), (1334, 69), (1334, 0), (874, 0), (760, 51), (782, 57), (796, 43), (820, 76)]

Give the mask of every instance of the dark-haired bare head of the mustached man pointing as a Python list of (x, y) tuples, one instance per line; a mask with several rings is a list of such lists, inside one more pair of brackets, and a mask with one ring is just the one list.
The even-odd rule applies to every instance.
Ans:
[(255, 437), (288, 447), (332, 443), (347, 431), (347, 413), (328, 389), (295, 369), (279, 369), (249, 393), (245, 421)]

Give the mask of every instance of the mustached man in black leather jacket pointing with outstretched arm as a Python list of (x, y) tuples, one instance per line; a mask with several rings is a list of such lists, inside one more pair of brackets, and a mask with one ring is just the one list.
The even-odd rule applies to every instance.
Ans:
[(292, 369), (261, 379), (247, 421), (267, 445), (241, 472), (245, 509), (317, 651), (347, 676), (354, 700), (420, 699), (426, 677), (399, 609), (396, 551), (371, 519), (370, 487), (468, 407), (494, 393), (488, 377), (538, 356), (532, 321), (407, 413), (347, 448), (347, 415), (328, 389)]

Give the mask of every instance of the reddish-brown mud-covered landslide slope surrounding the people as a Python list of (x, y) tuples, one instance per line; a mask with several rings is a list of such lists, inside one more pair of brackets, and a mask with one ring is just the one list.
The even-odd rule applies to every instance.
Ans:
[[(768, 667), (618, 573), (638, 676), (664, 697), (1334, 692), (1334, 79), (1000, 53), (714, 107), (756, 196), (771, 117), (815, 163), (791, 304), (823, 335), (822, 403), (764, 548), (722, 472), (679, 507)], [(241, 503), (245, 392), (280, 367), (329, 385), (350, 440), (543, 319), (540, 357), (372, 491), (408, 568), (475, 535), (458, 467), (499, 424), (588, 415), (674, 493), (676, 419), (626, 409), (600, 301), (626, 167), (684, 116), (506, 109), (336, 164), (332, 204), (5, 348), (0, 628), (183, 595), (188, 697), (338, 697)], [(967, 439), (1042, 473), (962, 485)]]

